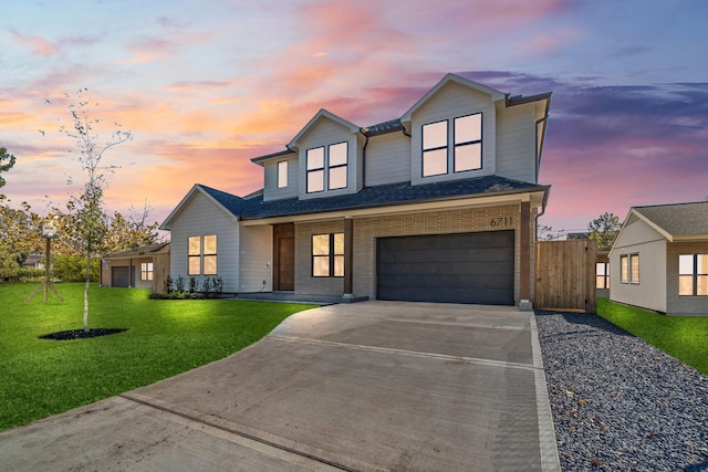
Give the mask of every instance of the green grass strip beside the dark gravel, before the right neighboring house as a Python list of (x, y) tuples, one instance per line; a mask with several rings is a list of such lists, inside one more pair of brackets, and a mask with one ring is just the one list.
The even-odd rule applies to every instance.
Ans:
[(664, 316), (597, 298), (597, 314), (708, 375), (708, 316)]

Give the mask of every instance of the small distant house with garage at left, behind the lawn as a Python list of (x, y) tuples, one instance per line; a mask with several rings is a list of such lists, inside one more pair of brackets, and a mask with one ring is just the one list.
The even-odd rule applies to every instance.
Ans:
[[(160, 277), (159, 274), (165, 276)], [(169, 243), (114, 252), (101, 260), (101, 285), (152, 289), (162, 292), (169, 274)]]

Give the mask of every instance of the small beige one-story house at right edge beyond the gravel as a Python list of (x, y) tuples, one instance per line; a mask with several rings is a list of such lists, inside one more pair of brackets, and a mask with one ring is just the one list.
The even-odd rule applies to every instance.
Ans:
[(708, 315), (708, 201), (633, 207), (610, 268), (613, 302)]

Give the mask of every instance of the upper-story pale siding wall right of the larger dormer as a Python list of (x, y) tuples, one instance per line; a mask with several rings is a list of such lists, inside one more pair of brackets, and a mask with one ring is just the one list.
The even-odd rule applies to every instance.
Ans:
[(535, 111), (532, 104), (498, 112), (497, 175), (537, 182)]

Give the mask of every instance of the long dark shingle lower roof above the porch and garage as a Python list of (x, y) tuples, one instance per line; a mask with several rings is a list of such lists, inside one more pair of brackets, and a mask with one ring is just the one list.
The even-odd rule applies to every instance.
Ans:
[(493, 193), (545, 191), (549, 188), (499, 176), (486, 176), (418, 186), (403, 182), (366, 187), (356, 193), (334, 197), (263, 201), (262, 196), (247, 200), (206, 186), (200, 187), (223, 208), (244, 220), (387, 207)]

